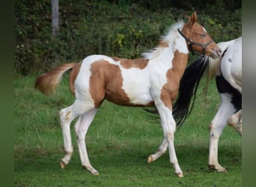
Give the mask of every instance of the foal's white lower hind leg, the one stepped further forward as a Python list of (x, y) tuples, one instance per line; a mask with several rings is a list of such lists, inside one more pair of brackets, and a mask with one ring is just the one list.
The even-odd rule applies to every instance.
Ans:
[(79, 120), (79, 123), (76, 123), (75, 125), (76, 141), (79, 147), (79, 154), (80, 154), (82, 166), (86, 168), (88, 171), (90, 171), (91, 174), (95, 174), (95, 175), (99, 174), (99, 172), (91, 166), (90, 160), (88, 158), (86, 144), (85, 144), (85, 135), (88, 131), (89, 126), (91, 125), (91, 122), (94, 120), (96, 113), (97, 113), (96, 108), (91, 109), (91, 111), (85, 112), (85, 114), (82, 114), (81, 120)]

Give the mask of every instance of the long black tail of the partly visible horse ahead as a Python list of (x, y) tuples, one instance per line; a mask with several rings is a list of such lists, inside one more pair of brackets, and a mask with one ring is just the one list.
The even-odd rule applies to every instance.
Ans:
[(207, 56), (200, 56), (189, 67), (186, 67), (180, 80), (179, 93), (172, 111), (177, 126), (181, 126), (192, 111), (199, 82), (208, 66), (208, 59)]

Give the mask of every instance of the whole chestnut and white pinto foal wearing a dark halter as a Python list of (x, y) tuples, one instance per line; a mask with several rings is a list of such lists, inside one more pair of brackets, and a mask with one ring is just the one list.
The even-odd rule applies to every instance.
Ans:
[[(171, 25), (168, 34), (162, 37), (159, 46), (144, 53), (141, 59), (112, 58), (106, 55), (90, 55), (81, 63), (62, 64), (39, 76), (34, 87), (47, 94), (55, 93), (61, 77), (67, 70), (70, 73), (70, 89), (76, 96), (73, 105), (60, 111), (61, 127), (64, 136), (65, 156), (61, 159), (64, 168), (73, 153), (70, 123), (79, 117), (75, 124), (76, 138), (82, 166), (91, 174), (99, 174), (88, 159), (85, 135), (97, 109), (104, 99), (118, 105), (155, 106), (161, 117), (164, 141), (159, 147), (168, 147), (170, 162), (175, 174), (183, 177), (174, 150), (176, 123), (172, 116), (172, 102), (177, 96), (179, 82), (186, 69), (189, 51), (218, 58), (221, 50), (198, 24), (196, 13), (183, 21)], [(159, 151), (149, 157), (156, 159)]]

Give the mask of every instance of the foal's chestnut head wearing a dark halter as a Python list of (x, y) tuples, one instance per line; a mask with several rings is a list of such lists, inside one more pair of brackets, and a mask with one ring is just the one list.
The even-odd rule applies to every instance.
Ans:
[(218, 58), (222, 54), (222, 50), (211, 39), (209, 34), (202, 25), (197, 22), (196, 13), (193, 13), (186, 23), (182, 31), (178, 30), (185, 38), (189, 50), (194, 54), (198, 52), (211, 58)]

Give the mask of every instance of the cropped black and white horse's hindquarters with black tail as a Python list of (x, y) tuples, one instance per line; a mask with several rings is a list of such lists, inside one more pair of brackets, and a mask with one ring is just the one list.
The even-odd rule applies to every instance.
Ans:
[[(228, 124), (242, 136), (242, 37), (218, 43), (222, 56), (216, 59), (201, 56), (186, 68), (180, 80), (179, 95), (173, 106), (177, 125), (181, 125), (192, 111), (201, 77), (209, 66), (210, 77), (216, 78), (221, 103), (210, 123), (210, 169), (226, 172), (219, 165), (218, 143), (223, 129)], [(192, 103), (191, 103), (192, 102)]]

